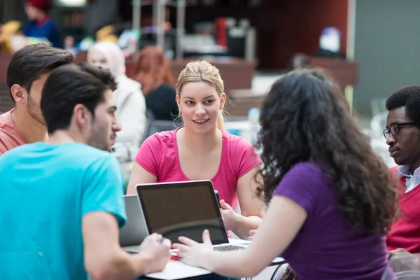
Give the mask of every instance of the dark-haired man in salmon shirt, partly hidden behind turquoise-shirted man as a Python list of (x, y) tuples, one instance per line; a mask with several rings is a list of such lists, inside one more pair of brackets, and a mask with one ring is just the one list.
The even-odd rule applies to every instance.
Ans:
[(22, 144), (43, 141), (47, 127), (39, 104), (45, 80), (73, 55), (45, 44), (27, 45), (15, 52), (7, 69), (7, 85), (15, 108), (0, 115), (0, 155)]

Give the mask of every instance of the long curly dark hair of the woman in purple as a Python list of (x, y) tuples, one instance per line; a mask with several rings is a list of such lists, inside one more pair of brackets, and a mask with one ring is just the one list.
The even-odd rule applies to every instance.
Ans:
[(337, 204), (349, 225), (388, 232), (398, 207), (396, 182), (322, 71), (297, 70), (277, 80), (262, 105), (260, 125), (260, 197), (264, 193), (269, 202), (295, 164), (311, 161), (335, 181)]

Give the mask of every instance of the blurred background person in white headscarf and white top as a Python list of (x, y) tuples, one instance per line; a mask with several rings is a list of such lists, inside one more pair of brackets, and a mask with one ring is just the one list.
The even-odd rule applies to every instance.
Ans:
[(109, 69), (117, 82), (113, 93), (117, 106), (117, 118), (122, 130), (117, 132), (116, 144), (131, 144), (139, 148), (146, 127), (146, 102), (141, 85), (125, 75), (125, 57), (118, 45), (100, 42), (87, 52), (87, 62)]

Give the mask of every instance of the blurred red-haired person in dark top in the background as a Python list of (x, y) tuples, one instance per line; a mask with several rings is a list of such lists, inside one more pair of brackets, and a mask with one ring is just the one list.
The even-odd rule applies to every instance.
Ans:
[(148, 46), (141, 50), (134, 65), (134, 79), (141, 83), (146, 107), (156, 120), (178, 116), (174, 78), (162, 48)]

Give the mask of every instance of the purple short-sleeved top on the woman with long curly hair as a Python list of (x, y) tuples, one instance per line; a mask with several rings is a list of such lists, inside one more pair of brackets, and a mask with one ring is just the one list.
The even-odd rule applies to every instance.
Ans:
[(307, 213), (282, 254), (299, 280), (381, 279), (386, 267), (384, 237), (349, 226), (337, 206), (334, 181), (321, 167), (312, 162), (295, 165), (274, 195), (288, 197)]

